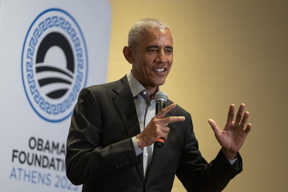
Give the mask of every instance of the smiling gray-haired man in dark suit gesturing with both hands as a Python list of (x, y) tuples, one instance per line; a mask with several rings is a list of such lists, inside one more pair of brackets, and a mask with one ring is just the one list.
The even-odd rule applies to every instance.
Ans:
[[(123, 54), (132, 70), (122, 79), (81, 91), (67, 139), (67, 177), (83, 192), (169, 192), (175, 174), (189, 192), (222, 191), (242, 170), (238, 153), (251, 125), (241, 104), (225, 128), (208, 122), (222, 148), (209, 164), (201, 156), (190, 113), (171, 100), (155, 115), (154, 95), (173, 62), (168, 26), (143, 19), (129, 31)], [(246, 127), (245, 127), (246, 125)], [(162, 148), (153, 147), (158, 139)]]

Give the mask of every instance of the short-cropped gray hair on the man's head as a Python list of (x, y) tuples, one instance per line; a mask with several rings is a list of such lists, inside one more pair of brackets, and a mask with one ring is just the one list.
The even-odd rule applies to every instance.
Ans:
[(169, 27), (162, 21), (153, 18), (145, 18), (136, 22), (129, 30), (128, 34), (128, 47), (135, 49), (137, 45), (143, 40), (144, 32), (146, 29), (160, 29), (170, 30)]

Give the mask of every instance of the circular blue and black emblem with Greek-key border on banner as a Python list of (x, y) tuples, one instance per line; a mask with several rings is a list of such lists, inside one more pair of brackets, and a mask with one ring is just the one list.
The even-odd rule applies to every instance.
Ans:
[(57, 8), (39, 14), (26, 35), (21, 65), (34, 111), (50, 122), (69, 117), (88, 74), (87, 48), (76, 20)]

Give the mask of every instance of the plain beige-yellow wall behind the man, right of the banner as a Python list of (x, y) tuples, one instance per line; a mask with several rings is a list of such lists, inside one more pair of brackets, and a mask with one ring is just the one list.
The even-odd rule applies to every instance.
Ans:
[[(174, 35), (174, 64), (164, 86), (191, 112), (207, 161), (220, 149), (207, 119), (225, 125), (228, 107), (246, 103), (252, 131), (240, 150), (243, 172), (225, 192), (288, 191), (288, 1), (110, 0), (113, 20), (107, 81), (124, 76), (130, 27), (144, 17)], [(173, 192), (184, 188), (178, 180)]]

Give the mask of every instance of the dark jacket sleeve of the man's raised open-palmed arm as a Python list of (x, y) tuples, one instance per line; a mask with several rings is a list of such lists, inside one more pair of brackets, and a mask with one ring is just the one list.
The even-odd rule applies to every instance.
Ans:
[(242, 171), (240, 154), (234, 166), (221, 150), (214, 160), (209, 164), (206, 162), (198, 149), (192, 118), (189, 114), (183, 152), (176, 172), (186, 190), (188, 192), (220, 192), (232, 178)]

